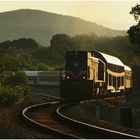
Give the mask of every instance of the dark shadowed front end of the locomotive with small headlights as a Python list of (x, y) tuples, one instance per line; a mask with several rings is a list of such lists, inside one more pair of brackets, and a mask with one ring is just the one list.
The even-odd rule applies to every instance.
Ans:
[(65, 56), (65, 78), (60, 82), (60, 96), (65, 100), (92, 97), (93, 81), (88, 80), (88, 53), (69, 51)]

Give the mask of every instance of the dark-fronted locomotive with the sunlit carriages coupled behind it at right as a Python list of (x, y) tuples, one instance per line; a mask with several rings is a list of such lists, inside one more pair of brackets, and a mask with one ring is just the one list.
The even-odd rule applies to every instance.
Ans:
[(132, 88), (132, 70), (117, 57), (99, 51), (68, 51), (60, 96), (65, 100), (127, 94)]

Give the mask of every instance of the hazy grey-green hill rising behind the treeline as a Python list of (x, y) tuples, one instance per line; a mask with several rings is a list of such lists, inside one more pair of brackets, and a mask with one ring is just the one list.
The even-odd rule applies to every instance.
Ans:
[(57, 33), (70, 36), (88, 33), (108, 37), (126, 35), (125, 31), (112, 30), (80, 18), (29, 9), (0, 13), (0, 31), (0, 42), (25, 37), (42, 45), (49, 45)]

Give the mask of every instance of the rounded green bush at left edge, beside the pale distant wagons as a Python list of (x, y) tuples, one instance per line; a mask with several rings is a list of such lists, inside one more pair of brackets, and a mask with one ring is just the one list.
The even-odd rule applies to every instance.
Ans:
[(11, 105), (23, 101), (29, 93), (27, 77), (23, 72), (16, 72), (4, 77), (0, 87), (0, 105)]

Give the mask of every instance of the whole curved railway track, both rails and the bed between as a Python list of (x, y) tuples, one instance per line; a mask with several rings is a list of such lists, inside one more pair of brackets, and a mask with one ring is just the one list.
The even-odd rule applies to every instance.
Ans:
[(22, 119), (41, 132), (53, 133), (56, 138), (140, 138), (69, 118), (63, 111), (74, 103), (62, 104), (58, 98), (49, 98), (51, 102), (31, 105), (22, 111)]

